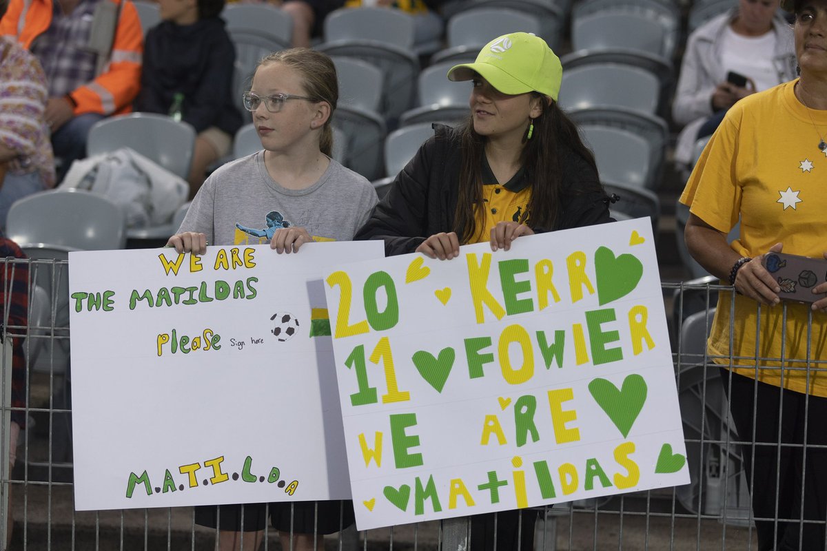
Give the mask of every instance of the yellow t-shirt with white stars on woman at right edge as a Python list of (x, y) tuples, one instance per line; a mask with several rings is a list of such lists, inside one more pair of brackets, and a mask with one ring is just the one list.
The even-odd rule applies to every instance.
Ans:
[[(827, 112), (808, 110), (793, 92), (797, 82), (753, 94), (724, 117), (692, 172), (681, 202), (716, 230), (729, 232), (741, 219), (731, 244), (742, 256), (758, 256), (782, 243), (784, 252), (823, 258), (827, 249)], [(811, 117), (811, 118), (810, 118)], [(750, 366), (735, 372), (796, 392), (827, 397), (827, 315), (810, 306), (782, 302), (762, 306), (731, 292), (719, 294), (709, 354), (715, 363)], [(786, 327), (783, 306), (786, 304)], [(730, 324), (732, 349), (730, 351)], [(756, 340), (758, 335), (758, 341)], [(782, 339), (783, 335), (783, 339)], [(795, 360), (795, 361), (793, 361)], [(811, 369), (807, 369), (807, 367)], [(792, 368), (792, 369), (791, 369)], [(809, 382), (809, 384), (808, 384)], [(809, 386), (809, 389), (808, 389)]]

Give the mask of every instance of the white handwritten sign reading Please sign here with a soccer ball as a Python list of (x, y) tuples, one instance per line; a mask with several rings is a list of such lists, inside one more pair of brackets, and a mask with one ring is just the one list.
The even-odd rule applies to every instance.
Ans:
[(383, 255), (69, 254), (76, 508), (349, 497), (322, 278)]

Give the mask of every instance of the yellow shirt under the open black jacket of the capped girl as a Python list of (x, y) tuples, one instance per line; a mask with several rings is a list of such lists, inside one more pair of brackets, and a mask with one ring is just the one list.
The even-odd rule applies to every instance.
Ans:
[(497, 222), (524, 222), (528, 219), (528, 201), (531, 199), (531, 186), (521, 168), (511, 179), (501, 184), (482, 156), (482, 200), (485, 207), (477, 211), (476, 228), (471, 243), (485, 243), (491, 240), (491, 228)]

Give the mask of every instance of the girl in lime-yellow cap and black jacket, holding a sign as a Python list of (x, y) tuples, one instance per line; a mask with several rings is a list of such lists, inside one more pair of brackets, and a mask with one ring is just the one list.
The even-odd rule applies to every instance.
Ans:
[[(557, 55), (523, 32), (452, 67), (448, 78), (474, 83), (471, 119), (434, 125), (356, 239), (445, 260), (460, 245), (508, 250), (521, 235), (613, 221), (594, 156), (557, 107), (561, 77)], [(531, 551), (536, 520), (532, 510), (473, 515), (470, 549)]]

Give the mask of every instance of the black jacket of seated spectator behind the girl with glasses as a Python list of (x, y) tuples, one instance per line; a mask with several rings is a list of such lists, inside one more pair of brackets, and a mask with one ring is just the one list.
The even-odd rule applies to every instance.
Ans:
[(235, 135), (241, 127), (232, 97), (236, 50), (222, 19), (187, 26), (162, 21), (146, 34), (143, 59), (136, 111), (166, 115), (175, 93), (183, 93), (182, 118), (196, 132), (217, 126)]

